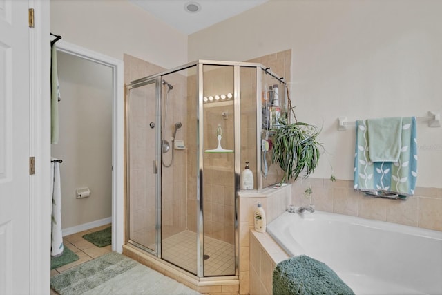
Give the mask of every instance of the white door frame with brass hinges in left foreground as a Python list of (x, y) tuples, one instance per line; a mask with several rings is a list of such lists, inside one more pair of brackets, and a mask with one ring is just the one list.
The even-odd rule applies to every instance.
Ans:
[[(29, 29), (30, 156), (35, 174), (30, 176), (29, 294), (50, 289), (50, 43), (49, 1), (28, 0), (35, 27)], [(28, 12), (23, 12), (28, 14)], [(23, 269), (23, 272), (26, 272)]]

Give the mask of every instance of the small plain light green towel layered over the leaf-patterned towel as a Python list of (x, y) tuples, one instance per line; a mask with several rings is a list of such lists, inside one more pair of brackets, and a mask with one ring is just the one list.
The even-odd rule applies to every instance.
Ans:
[(372, 162), (397, 162), (401, 155), (402, 118), (367, 120), (368, 152)]

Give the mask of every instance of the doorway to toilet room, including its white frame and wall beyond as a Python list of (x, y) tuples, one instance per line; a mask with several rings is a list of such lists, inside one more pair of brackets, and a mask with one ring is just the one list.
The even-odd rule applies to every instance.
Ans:
[[(68, 202), (72, 204), (80, 204), (77, 206), (77, 210), (80, 210), (79, 213), (81, 215), (84, 215), (85, 212), (85, 210), (82, 210), (82, 207), (88, 207), (87, 209), (91, 211), (98, 210), (97, 213), (102, 215), (108, 215), (110, 210), (112, 224), (112, 250), (121, 253), (124, 224), (123, 61), (74, 44), (69, 44), (63, 40), (57, 42), (57, 55), (61, 57), (61, 64), (64, 64), (65, 66), (70, 64), (70, 70), (72, 71), (70, 75), (68, 75), (69, 79), (81, 80), (79, 82), (81, 87), (65, 89), (65, 91), (68, 92), (65, 95), (66, 99), (63, 98), (64, 89), (60, 89), (61, 101), (59, 104), (65, 104), (64, 108), (66, 108), (66, 104), (69, 104), (68, 117), (70, 117), (70, 119), (62, 117), (63, 115), (60, 113), (60, 122), (62, 122), (62, 120), (68, 120), (68, 122), (74, 122), (72, 125), (75, 126), (66, 126), (66, 134), (60, 131), (60, 141), (65, 137), (64, 144), (60, 146), (52, 144), (52, 151), (61, 149), (63, 150), (63, 153), (67, 152), (68, 158), (61, 159), (64, 160), (64, 162), (60, 165), (70, 164), (71, 167), (67, 169), (72, 169), (72, 171), (69, 171), (69, 173), (67, 173), (68, 175), (62, 175), (61, 178), (77, 178), (76, 183), (71, 181), (70, 184), (68, 184), (70, 186), (67, 188), (69, 191), (66, 193), (66, 196), (62, 193), (62, 198), (68, 198)], [(81, 69), (81, 65), (86, 65), (86, 67)], [(59, 74), (60, 71), (66, 73), (66, 69), (61, 70), (60, 63), (58, 66)], [(87, 71), (87, 73), (85, 71)], [(93, 79), (94, 81), (87, 77), (92, 72), (95, 72), (94, 75), (97, 78)], [(60, 81), (60, 84), (61, 83), (62, 82)], [(84, 95), (84, 93), (93, 93), (93, 95), (88, 97), (89, 95)], [(70, 95), (75, 95), (76, 99), (70, 99)], [(64, 102), (64, 100), (66, 101)], [(77, 100), (77, 102), (73, 102), (73, 100)], [(64, 122), (64, 124), (69, 123)], [(81, 132), (81, 130), (93, 131)], [(102, 139), (96, 141), (96, 137), (102, 137)], [(98, 146), (97, 142), (99, 142)], [(104, 150), (105, 148), (107, 151)], [(77, 158), (75, 158), (75, 156), (71, 158), (70, 155), (76, 155)], [(81, 161), (77, 160), (79, 158), (81, 158)], [(101, 167), (99, 169), (104, 171), (104, 175), (97, 175), (99, 173), (93, 171), (97, 166)], [(72, 175), (69, 175), (70, 173), (72, 173)], [(84, 180), (85, 177), (88, 179), (98, 178), (94, 180), (94, 185), (98, 187), (101, 186), (101, 188), (95, 192), (95, 196), (93, 189), (90, 189), (90, 197), (88, 198), (93, 201), (89, 202), (90, 205), (87, 203), (88, 200), (78, 200), (75, 193), (75, 189), (77, 189), (78, 186), (88, 187), (89, 180)], [(90, 181), (92, 182), (92, 180)], [(103, 194), (107, 194), (108, 196), (100, 196)], [(94, 197), (102, 198), (102, 200), (95, 200)], [(107, 213), (99, 213), (99, 209), (95, 204), (96, 202), (108, 202), (108, 204), (105, 205), (105, 207), (107, 206), (107, 209), (104, 209)], [(68, 206), (72, 208), (71, 205), (68, 204)], [(90, 215), (93, 213), (88, 214)], [(63, 231), (63, 234), (66, 236), (90, 227), (96, 227), (96, 222), (108, 223), (108, 216), (106, 217), (107, 218), (93, 220), (93, 222), (83, 222), (80, 219), (75, 220), (77, 217), (70, 216), (70, 220), (68, 221), (70, 223), (68, 223), (67, 226), (63, 225), (64, 229), (68, 227), (66, 231)], [(77, 224), (79, 223), (79, 225), (72, 226), (75, 222), (77, 222)]]

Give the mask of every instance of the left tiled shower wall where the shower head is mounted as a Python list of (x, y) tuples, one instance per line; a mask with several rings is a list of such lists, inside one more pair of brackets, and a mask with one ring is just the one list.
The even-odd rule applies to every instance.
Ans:
[[(124, 55), (125, 83), (162, 71), (164, 68), (160, 66), (131, 55)], [(182, 122), (183, 127), (177, 132), (177, 139), (187, 142), (187, 126), (184, 121), (186, 117), (186, 77), (174, 73), (168, 75), (166, 79), (173, 85), (173, 90), (169, 93), (169, 118), (164, 130), (165, 137), (171, 142), (169, 137), (171, 137), (173, 124)], [(131, 229), (135, 230), (134, 234), (137, 234), (134, 238), (140, 238), (140, 240), (150, 243), (155, 241), (155, 199), (152, 198), (155, 183), (146, 183), (146, 179), (149, 179), (146, 176), (152, 174), (151, 161), (153, 161), (153, 158), (146, 159), (146, 153), (149, 155), (155, 153), (155, 133), (153, 133), (154, 129), (149, 127), (149, 120), (155, 120), (155, 99), (145, 99), (147, 93), (143, 93), (142, 88), (137, 88), (139, 89), (137, 95), (144, 96), (144, 99), (143, 97), (137, 99), (136, 104), (138, 105), (133, 107), (133, 111), (138, 115), (131, 118), (132, 121), (136, 120), (136, 122), (134, 121), (136, 127), (131, 129), (133, 137), (142, 139), (142, 144), (128, 151), (131, 158), (134, 159), (130, 164), (131, 171), (129, 171), (132, 204), (129, 214), (133, 216), (129, 225)], [(148, 95), (154, 97), (154, 93)], [(147, 133), (148, 135), (146, 135)], [(164, 167), (162, 170), (162, 238), (168, 238), (186, 228), (186, 155), (186, 150), (175, 150), (173, 165), (169, 168)], [(166, 164), (169, 164), (171, 150), (165, 155), (164, 160)]]

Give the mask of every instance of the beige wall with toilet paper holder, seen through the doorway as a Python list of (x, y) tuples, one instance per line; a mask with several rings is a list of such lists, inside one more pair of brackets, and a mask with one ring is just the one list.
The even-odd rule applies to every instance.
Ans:
[[(112, 206), (112, 69), (58, 53), (61, 92), (60, 137), (52, 156), (63, 160), (62, 228), (111, 217)], [(77, 199), (75, 189), (89, 187), (90, 197)]]

